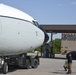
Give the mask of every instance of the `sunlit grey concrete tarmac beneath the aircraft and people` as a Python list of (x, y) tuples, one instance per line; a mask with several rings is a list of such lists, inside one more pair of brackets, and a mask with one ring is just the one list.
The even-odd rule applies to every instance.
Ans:
[[(56, 58), (40, 58), (40, 65), (36, 69), (13, 69), (6, 75), (67, 75), (63, 64), (65, 56), (56, 55)], [(0, 72), (0, 75), (4, 75)], [(72, 74), (76, 75), (76, 60), (73, 60)]]

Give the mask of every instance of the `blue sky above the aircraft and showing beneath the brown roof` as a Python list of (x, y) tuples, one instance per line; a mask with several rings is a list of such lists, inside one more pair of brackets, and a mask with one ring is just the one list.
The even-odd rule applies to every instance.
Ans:
[[(39, 24), (76, 24), (76, 0), (0, 0), (0, 3), (22, 10)], [(55, 34), (53, 38), (60, 37), (61, 34)]]

